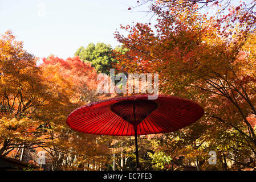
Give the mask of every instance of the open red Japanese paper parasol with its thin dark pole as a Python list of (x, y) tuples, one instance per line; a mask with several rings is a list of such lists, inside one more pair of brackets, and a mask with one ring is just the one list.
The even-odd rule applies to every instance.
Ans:
[(148, 100), (148, 95), (139, 95), (79, 107), (68, 115), (67, 124), (88, 134), (135, 135), (138, 169), (137, 135), (176, 131), (196, 122), (203, 114), (202, 107), (190, 100), (163, 95)]

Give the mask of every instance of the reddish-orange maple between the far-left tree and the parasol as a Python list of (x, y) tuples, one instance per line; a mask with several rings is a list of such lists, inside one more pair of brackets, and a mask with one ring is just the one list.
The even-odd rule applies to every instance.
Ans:
[(51, 159), (51, 169), (84, 169), (92, 160), (94, 166), (105, 164), (103, 154), (108, 153), (108, 146), (102, 143), (104, 138), (78, 133), (66, 124), (72, 110), (100, 99), (96, 92), (96, 69), (78, 56), (63, 60), (54, 55), (44, 58), (40, 69), (55, 94), (52, 106), (42, 113), (50, 126), (46, 129), (49, 139), (44, 140), (42, 147)]

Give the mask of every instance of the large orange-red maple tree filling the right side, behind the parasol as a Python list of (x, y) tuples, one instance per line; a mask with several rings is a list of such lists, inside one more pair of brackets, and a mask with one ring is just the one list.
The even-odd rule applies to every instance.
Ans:
[[(210, 127), (198, 135), (202, 126), (193, 129), (193, 125), (189, 127), (192, 131), (182, 131), (186, 131), (185, 136), (178, 135), (178, 138), (189, 136), (191, 139), (193, 135), (188, 134), (194, 132), (194, 139), (182, 147), (182, 151), (189, 146), (194, 148), (195, 142), (200, 143), (199, 147), (196, 145), (185, 152), (186, 156), (195, 151), (198, 158), (202, 158), (200, 150), (204, 146), (205, 156), (210, 150), (218, 150), (222, 156), (243, 151), (239, 158), (232, 160), (244, 164), (243, 159), (256, 155), (255, 128), (248, 119), (251, 114), (255, 118), (256, 114), (255, 35), (251, 31), (254, 15), (242, 11), (247, 7), (245, 4), (221, 18), (208, 18), (196, 13), (196, 3), (187, 11), (183, 6), (168, 6), (169, 1), (164, 3), (168, 9), (152, 6), (158, 16), (154, 29), (150, 23), (137, 23), (121, 26), (128, 31), (128, 36), (115, 33), (123, 47), (129, 49), (118, 57), (116, 68), (128, 73), (159, 73), (162, 93), (189, 98), (204, 107), (205, 117), (198, 123)], [(179, 14), (174, 16), (172, 12)], [(240, 20), (232, 24), (234, 16)], [(194, 156), (191, 155), (191, 159)]]

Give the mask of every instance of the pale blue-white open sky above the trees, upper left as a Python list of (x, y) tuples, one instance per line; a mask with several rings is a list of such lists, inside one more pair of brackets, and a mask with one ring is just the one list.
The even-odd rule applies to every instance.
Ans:
[(91, 42), (104, 42), (112, 48), (119, 45), (113, 32), (120, 24), (149, 21), (147, 13), (138, 12), (148, 5), (128, 11), (135, 5), (136, 0), (0, 0), (0, 33), (13, 31), (35, 56), (53, 53), (66, 59)]

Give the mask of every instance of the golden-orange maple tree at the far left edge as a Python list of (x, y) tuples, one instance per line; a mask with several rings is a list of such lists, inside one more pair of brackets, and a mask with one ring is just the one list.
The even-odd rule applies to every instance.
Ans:
[(50, 98), (35, 56), (7, 31), (0, 39), (0, 156), (15, 148), (32, 147), (40, 121), (36, 118)]

